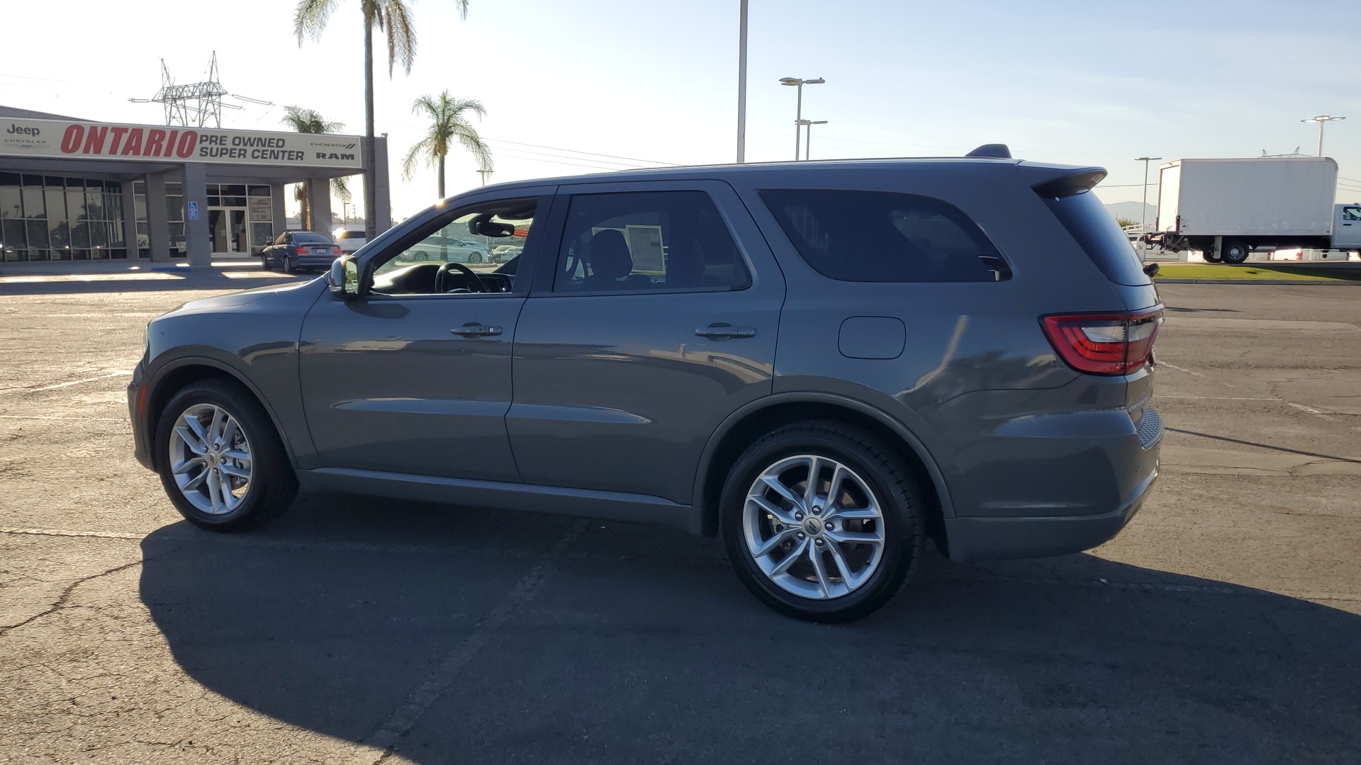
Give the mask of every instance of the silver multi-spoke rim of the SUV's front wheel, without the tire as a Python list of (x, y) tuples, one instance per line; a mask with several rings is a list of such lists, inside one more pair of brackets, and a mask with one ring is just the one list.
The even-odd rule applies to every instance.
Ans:
[(193, 404), (180, 415), (169, 464), (180, 493), (204, 513), (230, 513), (250, 493), (250, 441), (237, 418), (216, 404)]

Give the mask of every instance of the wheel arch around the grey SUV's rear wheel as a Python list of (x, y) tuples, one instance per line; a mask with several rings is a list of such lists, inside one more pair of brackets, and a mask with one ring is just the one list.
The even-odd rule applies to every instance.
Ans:
[(833, 419), (862, 427), (893, 448), (913, 471), (925, 494), (927, 532), (946, 550), (945, 519), (954, 517), (949, 487), (935, 459), (921, 440), (902, 422), (883, 411), (832, 393), (788, 393), (766, 396), (728, 415), (709, 437), (695, 475), (694, 504), (701, 509), (701, 532), (719, 531), (719, 495), (731, 466), (743, 449), (762, 434), (793, 422)]

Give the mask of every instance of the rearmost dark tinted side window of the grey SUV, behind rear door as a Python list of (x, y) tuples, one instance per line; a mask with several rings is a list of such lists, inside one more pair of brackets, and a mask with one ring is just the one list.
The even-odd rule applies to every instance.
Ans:
[(1000, 257), (958, 207), (912, 193), (764, 189), (808, 265), (842, 282), (992, 282)]

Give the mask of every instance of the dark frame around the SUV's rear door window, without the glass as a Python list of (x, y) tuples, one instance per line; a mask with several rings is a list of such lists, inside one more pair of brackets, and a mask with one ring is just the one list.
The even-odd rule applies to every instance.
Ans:
[[(715, 186), (721, 186), (727, 189), (729, 199), (723, 199), (721, 193), (716, 193), (719, 189)], [(599, 195), (615, 195), (615, 193), (663, 193), (663, 192), (701, 192), (704, 193), (709, 203), (713, 204), (715, 211), (719, 214), (723, 227), (738, 253), (738, 264), (746, 270), (747, 283), (744, 287), (734, 289), (731, 286), (698, 286), (698, 287), (659, 287), (646, 290), (581, 290), (581, 291), (555, 291), (554, 280), (558, 271), (563, 267), (563, 260), (566, 253), (563, 252), (563, 238), (566, 237), (566, 223), (568, 215), (572, 208), (572, 201), (581, 196), (599, 196)], [(543, 268), (543, 274), (536, 280), (534, 286), (534, 294), (536, 295), (553, 295), (553, 297), (610, 297), (610, 295), (661, 295), (661, 294), (686, 294), (686, 293), (729, 293), (729, 291), (744, 291), (750, 290), (757, 283), (757, 268), (751, 261), (751, 255), (743, 244), (743, 238), (734, 226), (734, 221), (727, 210), (725, 203), (742, 204), (740, 199), (732, 191), (731, 186), (723, 184), (721, 181), (702, 180), (702, 181), (653, 181), (653, 182), (621, 182), (621, 184), (576, 184), (572, 186), (559, 186), (555, 201), (554, 214), (557, 215), (554, 233), (555, 246), (553, 250), (544, 249), (543, 252), (553, 252), (550, 257), (543, 256), (539, 259), (540, 263), (548, 263), (551, 260), (551, 268)], [(743, 206), (744, 207), (744, 206)]]

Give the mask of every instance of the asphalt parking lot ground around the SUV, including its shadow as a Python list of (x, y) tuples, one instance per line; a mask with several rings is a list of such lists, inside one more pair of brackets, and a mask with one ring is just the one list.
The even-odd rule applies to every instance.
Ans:
[(0, 761), (1361, 762), (1361, 287), (1165, 284), (1124, 534), (932, 553), (818, 626), (667, 530), (180, 521), (131, 453), (143, 327), (276, 278), (0, 284)]

